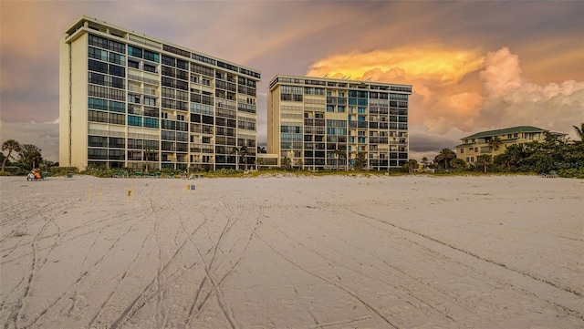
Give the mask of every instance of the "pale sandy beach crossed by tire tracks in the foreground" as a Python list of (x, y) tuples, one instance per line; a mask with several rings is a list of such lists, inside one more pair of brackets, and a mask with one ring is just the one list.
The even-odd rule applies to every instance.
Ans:
[(0, 184), (3, 328), (584, 327), (584, 180)]

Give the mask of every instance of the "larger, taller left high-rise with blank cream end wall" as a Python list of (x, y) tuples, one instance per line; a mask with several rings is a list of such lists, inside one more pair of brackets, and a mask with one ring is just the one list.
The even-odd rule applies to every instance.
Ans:
[(82, 16), (59, 42), (61, 166), (235, 168), (259, 71)]

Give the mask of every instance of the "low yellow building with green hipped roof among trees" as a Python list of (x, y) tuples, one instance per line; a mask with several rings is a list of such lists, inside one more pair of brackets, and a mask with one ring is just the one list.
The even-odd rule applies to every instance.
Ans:
[[(477, 132), (461, 139), (456, 146), (456, 158), (464, 159), (466, 163), (474, 163), (481, 154), (495, 157), (504, 153), (510, 145), (523, 145), (531, 141), (540, 141), (546, 138), (545, 129), (531, 126), (518, 126), (506, 129), (495, 129)], [(567, 134), (553, 132), (561, 137)]]

